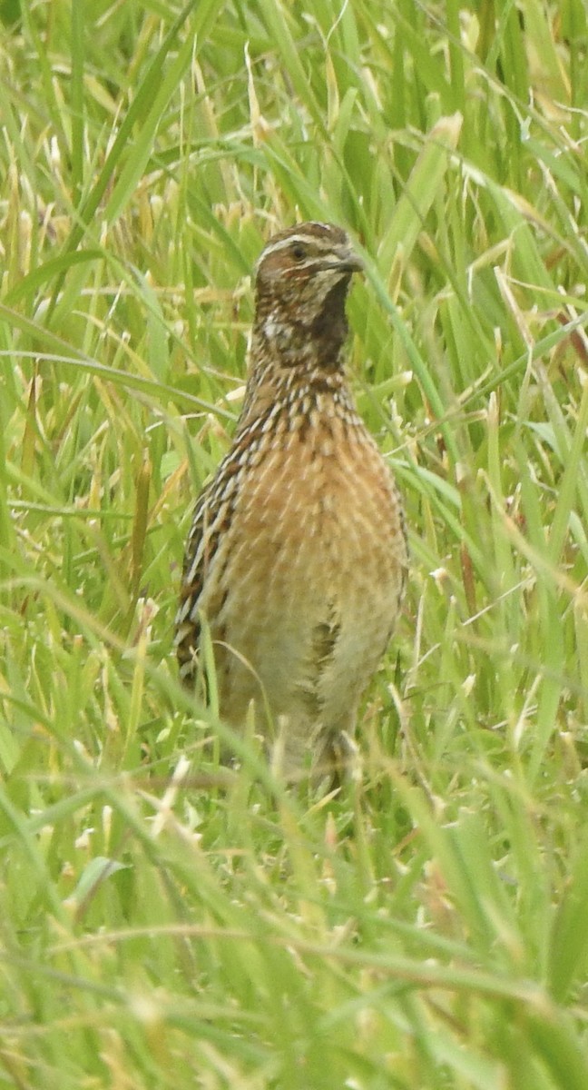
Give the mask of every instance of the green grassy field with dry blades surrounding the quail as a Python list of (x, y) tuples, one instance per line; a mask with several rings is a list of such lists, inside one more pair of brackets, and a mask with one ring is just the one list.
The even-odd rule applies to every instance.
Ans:
[[(0, 1087), (588, 1087), (583, 0), (0, 3)], [(346, 227), (412, 573), (363, 773), (176, 681), (274, 229)]]

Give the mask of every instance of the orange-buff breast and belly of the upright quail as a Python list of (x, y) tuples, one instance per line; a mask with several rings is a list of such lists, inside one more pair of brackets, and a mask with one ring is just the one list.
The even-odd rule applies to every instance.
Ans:
[(336, 731), (352, 723), (390, 638), (404, 538), (371, 447), (353, 473), (333, 460), (298, 459), (295, 469), (287, 460), (257, 475), (241, 499), (238, 537), (228, 534), (217, 557), (232, 588), (209, 613), (221, 713), (238, 725), (264, 694), (274, 720)]

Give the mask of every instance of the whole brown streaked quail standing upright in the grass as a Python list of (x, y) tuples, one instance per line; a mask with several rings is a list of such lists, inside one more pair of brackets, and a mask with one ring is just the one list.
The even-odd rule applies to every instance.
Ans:
[(345, 298), (360, 269), (327, 223), (282, 231), (264, 250), (243, 411), (184, 562), (181, 676), (194, 682), (204, 616), (221, 716), (240, 729), (254, 701), (289, 775), (353, 749), (407, 566), (401, 500), (343, 367)]

